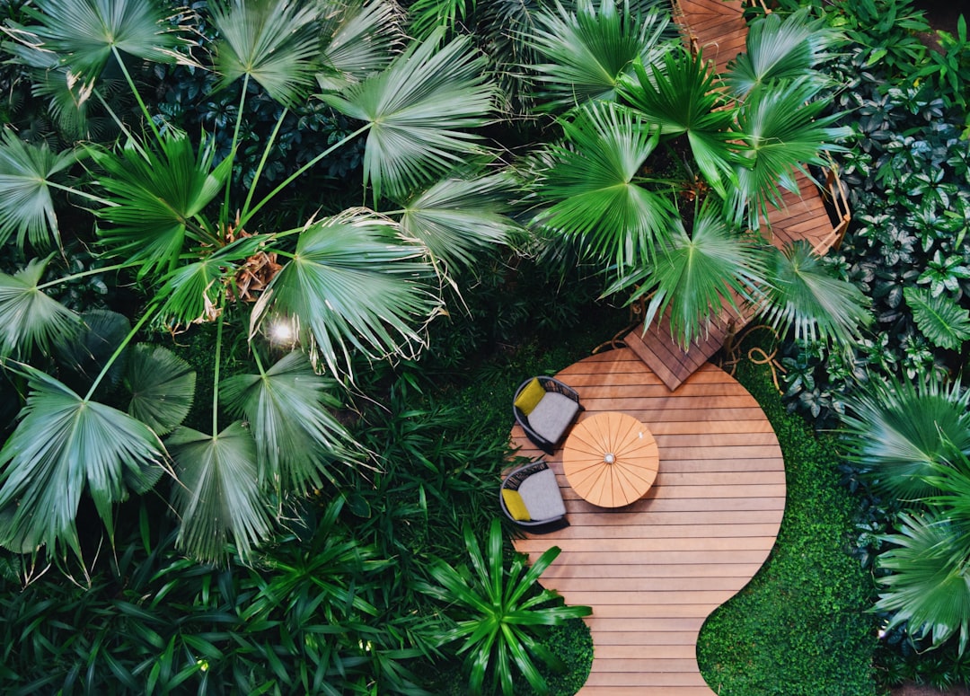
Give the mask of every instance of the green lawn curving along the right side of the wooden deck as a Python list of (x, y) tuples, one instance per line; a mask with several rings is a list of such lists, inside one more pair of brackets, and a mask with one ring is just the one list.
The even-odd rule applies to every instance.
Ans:
[(765, 368), (737, 377), (778, 436), (788, 501), (778, 542), (752, 582), (704, 624), (701, 673), (723, 696), (871, 696), (872, 579), (848, 554), (857, 503), (839, 484), (829, 435), (787, 413)]

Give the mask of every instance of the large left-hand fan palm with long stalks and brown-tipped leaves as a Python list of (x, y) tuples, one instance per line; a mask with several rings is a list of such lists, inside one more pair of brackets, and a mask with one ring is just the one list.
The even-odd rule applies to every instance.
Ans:
[[(0, 274), (0, 316), (8, 320), (0, 330), (0, 355), (22, 361), (7, 365), (25, 375), (29, 387), (19, 423), (0, 451), (0, 544), (17, 551), (64, 545), (81, 554), (74, 517), (82, 490), (111, 531), (113, 504), (168, 472), (181, 525), (178, 544), (201, 559), (219, 560), (231, 542), (245, 557), (273, 532), (289, 495), (321, 486), (331, 478), (328, 467), (360, 459), (328, 410), (339, 379), (353, 378), (355, 356), (420, 349), (422, 328), (440, 307), (441, 266), (470, 264), (513, 227), (496, 203), (507, 187), (501, 175), (465, 167), (455, 172), (469, 155), (486, 154), (469, 134), (489, 121), (494, 103), (484, 58), (467, 39), (442, 45), (440, 32), (395, 53), (400, 34), (388, 20), (396, 15), (381, 2), (210, 4), (218, 38), (207, 48), (219, 86), (242, 79), (244, 100), (255, 82), (284, 107), (322, 88), (326, 103), (363, 121), (258, 198), (260, 165), (244, 200), (234, 201), (229, 179), (240, 124), (229, 156), (217, 162), (206, 139), (192, 142), (171, 126), (156, 126), (128, 70), (136, 60), (188, 61), (181, 27), (173, 29), (161, 9), (135, 0), (39, 0), (35, 8), (30, 16), (36, 24), (19, 33), (20, 54), (56, 56), (59, 66), (80, 76), (84, 98), (100, 98), (106, 66), (120, 70), (141, 105), (147, 135), (118, 119), (123, 144), (56, 156), (5, 136), (0, 163), (13, 163), (11, 175), (22, 183), (31, 210), (17, 213), (5, 198), (0, 229), (16, 231), (24, 247), (56, 239), (49, 190), (66, 188), (97, 216), (103, 258), (119, 260), (101, 270), (133, 273), (147, 297), (134, 328), (80, 395), (26, 364), (58, 335), (83, 330), (83, 320), (48, 294), (71, 278), (42, 284), (43, 260), (15, 275)], [(281, 123), (282, 117), (265, 152)], [(390, 196), (401, 209), (353, 209), (295, 220), (289, 229), (270, 227), (260, 213), (281, 191), (365, 133), (365, 196), (370, 189), (375, 205)], [(60, 172), (81, 156), (89, 157), (90, 185), (60, 182)], [(490, 222), (470, 224), (476, 217)], [(284, 261), (251, 311), (245, 336), (254, 369), (224, 378), (222, 345), (225, 332), (234, 330), (226, 319), (236, 311), (237, 275), (260, 255)], [(133, 347), (142, 371), (128, 413), (99, 400), (99, 385), (131, 352), (138, 332), (206, 321), (216, 323), (209, 432), (179, 425), (184, 413), (178, 417), (158, 405), (176, 395), (184, 401), (186, 386), (178, 375), (161, 379), (168, 373), (160, 368), (159, 379), (149, 379), (148, 348)], [(292, 330), (299, 348), (273, 360), (264, 336), (280, 324)], [(225, 416), (232, 419), (228, 425), (220, 423)], [(78, 467), (78, 461), (88, 465)]]

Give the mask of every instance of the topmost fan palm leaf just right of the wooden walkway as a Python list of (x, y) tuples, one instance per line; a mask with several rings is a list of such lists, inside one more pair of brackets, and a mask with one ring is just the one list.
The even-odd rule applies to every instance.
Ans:
[(834, 33), (823, 19), (810, 19), (808, 12), (803, 8), (784, 18), (771, 13), (751, 22), (746, 52), (728, 64), (723, 76), (735, 96), (744, 97), (777, 80), (808, 77), (820, 86), (828, 81), (812, 67), (827, 58), (825, 49), (833, 43)]

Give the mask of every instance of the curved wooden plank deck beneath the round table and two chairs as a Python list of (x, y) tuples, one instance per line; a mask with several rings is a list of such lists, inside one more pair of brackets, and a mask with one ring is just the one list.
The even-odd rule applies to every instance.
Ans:
[[(546, 461), (570, 526), (515, 540), (534, 560), (563, 553), (542, 576), (572, 605), (588, 605), (595, 656), (584, 696), (710, 696), (697, 668), (704, 619), (751, 580), (775, 542), (785, 468), (758, 402), (706, 364), (675, 392), (629, 348), (570, 365), (557, 377), (587, 411), (622, 411), (660, 448), (654, 487), (626, 508), (597, 508), (568, 488), (562, 450)], [(542, 453), (514, 427), (519, 454)]]

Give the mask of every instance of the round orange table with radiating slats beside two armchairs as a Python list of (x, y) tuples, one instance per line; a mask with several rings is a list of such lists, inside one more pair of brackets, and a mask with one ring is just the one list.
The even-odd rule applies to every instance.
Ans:
[(657, 478), (659, 464), (657, 440), (626, 413), (598, 413), (580, 421), (563, 449), (569, 486), (605, 508), (639, 500)]

